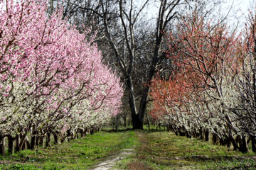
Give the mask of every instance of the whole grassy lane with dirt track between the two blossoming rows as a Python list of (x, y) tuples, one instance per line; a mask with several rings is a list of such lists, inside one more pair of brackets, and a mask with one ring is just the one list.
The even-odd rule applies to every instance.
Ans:
[(102, 131), (0, 157), (0, 169), (256, 169), (255, 156), (163, 130)]

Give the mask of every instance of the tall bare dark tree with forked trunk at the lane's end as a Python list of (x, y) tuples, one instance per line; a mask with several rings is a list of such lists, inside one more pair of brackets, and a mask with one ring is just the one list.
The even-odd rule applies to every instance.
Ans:
[(107, 60), (117, 66), (126, 84), (133, 128), (142, 129), (151, 79), (167, 60), (164, 33), (184, 11), (196, 6), (203, 12), (205, 4), (186, 0), (62, 2), (67, 9), (63, 16), (71, 23), (98, 28), (97, 43), (103, 55), (112, 56)]

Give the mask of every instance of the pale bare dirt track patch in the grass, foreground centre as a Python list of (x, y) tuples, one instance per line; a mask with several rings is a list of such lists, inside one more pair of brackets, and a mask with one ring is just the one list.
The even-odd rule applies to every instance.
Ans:
[(122, 152), (120, 152), (119, 154), (110, 157), (105, 162), (97, 164), (95, 166), (95, 168), (93, 168), (91, 170), (109, 170), (109, 169), (114, 169), (114, 166), (117, 164), (118, 161), (128, 157), (131, 154), (134, 154), (134, 149), (123, 149)]

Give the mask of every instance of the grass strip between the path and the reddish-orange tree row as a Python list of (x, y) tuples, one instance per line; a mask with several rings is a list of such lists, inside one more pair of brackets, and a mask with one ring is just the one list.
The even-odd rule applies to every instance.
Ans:
[(147, 169), (256, 169), (252, 152), (242, 154), (227, 147), (197, 139), (179, 137), (169, 132), (137, 132), (141, 144), (137, 155), (119, 163), (129, 169), (140, 162)]

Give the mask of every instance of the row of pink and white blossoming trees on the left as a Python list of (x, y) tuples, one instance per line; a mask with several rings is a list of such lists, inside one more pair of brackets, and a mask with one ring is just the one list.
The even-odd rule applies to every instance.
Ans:
[[(119, 113), (119, 78), (85, 33), (48, 16), (46, 2), (0, 1), (0, 154), (48, 137), (75, 137)], [(91, 37), (91, 38), (89, 38)], [(28, 141), (28, 135), (31, 141)]]

